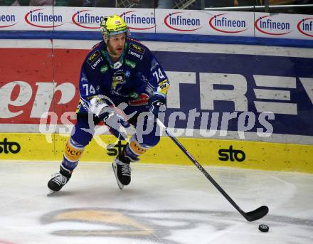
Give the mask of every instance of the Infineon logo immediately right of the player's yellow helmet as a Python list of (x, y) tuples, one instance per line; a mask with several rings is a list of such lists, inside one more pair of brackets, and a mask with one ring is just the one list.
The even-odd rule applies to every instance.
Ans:
[(124, 12), (120, 17), (123, 18), (128, 28), (131, 30), (144, 31), (156, 26), (154, 17), (140, 16), (137, 10)]

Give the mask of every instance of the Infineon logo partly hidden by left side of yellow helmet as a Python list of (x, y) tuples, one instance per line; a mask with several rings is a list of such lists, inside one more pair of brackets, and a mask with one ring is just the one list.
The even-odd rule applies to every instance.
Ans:
[(89, 11), (90, 10), (77, 11), (72, 16), (73, 23), (81, 28), (100, 28), (100, 22), (104, 16), (92, 16), (92, 14), (88, 13)]

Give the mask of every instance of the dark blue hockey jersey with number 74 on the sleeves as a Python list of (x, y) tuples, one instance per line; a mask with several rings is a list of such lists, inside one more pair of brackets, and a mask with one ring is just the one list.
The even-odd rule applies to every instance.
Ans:
[(127, 38), (120, 60), (113, 63), (104, 41), (88, 53), (80, 71), (80, 106), (87, 112), (91, 97), (105, 95), (115, 105), (145, 93), (166, 99), (169, 80), (151, 51), (142, 43)]

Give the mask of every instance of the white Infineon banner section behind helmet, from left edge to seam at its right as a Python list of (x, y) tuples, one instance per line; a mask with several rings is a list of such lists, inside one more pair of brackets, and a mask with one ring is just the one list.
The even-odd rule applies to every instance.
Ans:
[(0, 6), (1, 31), (99, 31), (104, 16), (118, 14), (133, 32), (155, 33), (154, 9)]

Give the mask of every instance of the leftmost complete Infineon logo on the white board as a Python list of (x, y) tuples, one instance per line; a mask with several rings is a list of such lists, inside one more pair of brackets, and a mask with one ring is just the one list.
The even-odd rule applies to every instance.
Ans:
[(53, 28), (63, 25), (61, 15), (45, 14), (43, 12), (44, 10), (45, 9), (34, 9), (29, 11), (24, 17), (26, 23), (39, 28)]

